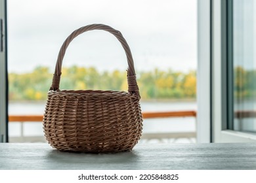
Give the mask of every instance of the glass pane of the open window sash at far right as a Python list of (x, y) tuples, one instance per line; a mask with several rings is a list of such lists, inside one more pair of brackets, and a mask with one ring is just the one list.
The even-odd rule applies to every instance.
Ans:
[(236, 131), (256, 132), (256, 1), (233, 1), (234, 121)]

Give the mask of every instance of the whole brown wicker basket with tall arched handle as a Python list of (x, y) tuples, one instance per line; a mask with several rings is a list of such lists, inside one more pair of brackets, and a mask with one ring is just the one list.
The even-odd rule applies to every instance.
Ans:
[[(121, 42), (128, 61), (128, 92), (59, 90), (62, 60), (68, 44), (85, 31), (100, 29)], [(142, 133), (140, 94), (131, 50), (121, 33), (108, 25), (75, 30), (62, 44), (48, 92), (43, 129), (49, 144), (60, 151), (121, 152), (132, 150)]]

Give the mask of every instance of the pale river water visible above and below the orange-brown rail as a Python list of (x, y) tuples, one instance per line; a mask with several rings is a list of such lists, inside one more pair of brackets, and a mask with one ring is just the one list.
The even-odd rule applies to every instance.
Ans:
[[(142, 112), (148, 111), (175, 111), (175, 110), (196, 110), (195, 101), (181, 102), (159, 102), (142, 101), (140, 103)], [(10, 115), (42, 115), (45, 110), (44, 103), (9, 103)], [(9, 125), (10, 137), (20, 136), (20, 123)], [(154, 118), (145, 119), (143, 122), (143, 133), (168, 133), (168, 132), (188, 132), (196, 131), (196, 118)], [(25, 136), (43, 135), (43, 127), (39, 122), (24, 123)]]

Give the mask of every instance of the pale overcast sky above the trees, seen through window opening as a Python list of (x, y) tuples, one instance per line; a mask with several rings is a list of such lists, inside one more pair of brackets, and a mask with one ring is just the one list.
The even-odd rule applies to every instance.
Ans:
[[(66, 37), (95, 23), (121, 31), (137, 71), (196, 69), (196, 0), (10, 0), (8, 11), (9, 72), (38, 65), (54, 69)], [(70, 65), (100, 71), (127, 68), (121, 45), (104, 31), (77, 37), (64, 57), (64, 66)]]

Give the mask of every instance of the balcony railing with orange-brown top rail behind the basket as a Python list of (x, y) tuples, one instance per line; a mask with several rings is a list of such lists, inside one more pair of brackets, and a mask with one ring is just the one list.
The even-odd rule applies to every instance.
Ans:
[[(169, 112), (142, 112), (144, 119), (149, 118), (195, 118), (196, 111), (184, 110), (184, 111), (169, 111)], [(42, 122), (42, 115), (10, 115), (9, 122), (20, 122), (20, 137), (10, 137), (10, 142), (45, 142), (45, 138), (42, 136), (25, 136), (24, 135), (24, 122)], [(157, 140), (161, 142), (170, 141), (175, 142), (177, 139), (188, 139), (192, 142), (192, 139), (196, 139), (196, 131), (188, 132), (168, 132), (168, 133), (143, 133), (142, 142), (148, 142), (151, 140)]]

